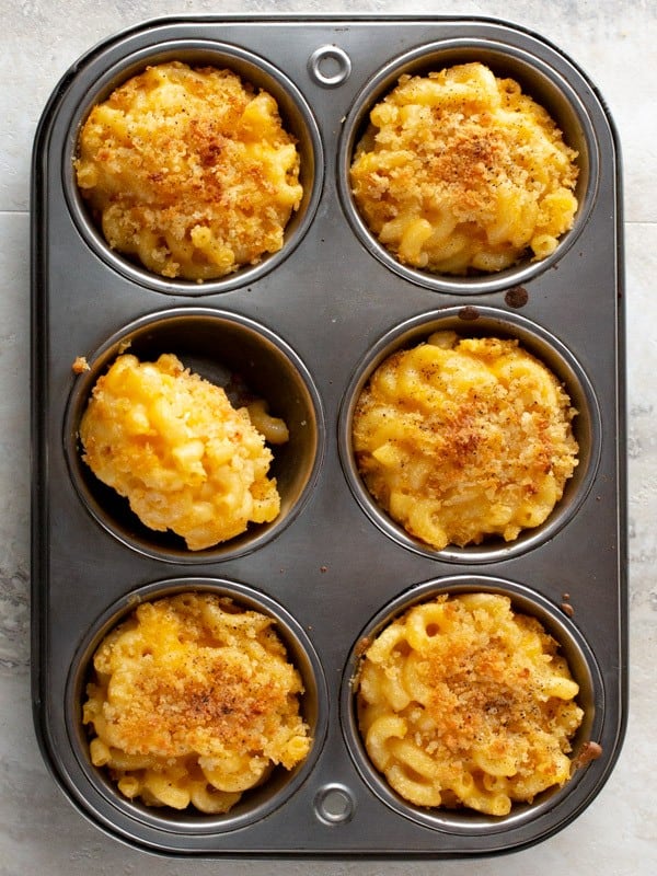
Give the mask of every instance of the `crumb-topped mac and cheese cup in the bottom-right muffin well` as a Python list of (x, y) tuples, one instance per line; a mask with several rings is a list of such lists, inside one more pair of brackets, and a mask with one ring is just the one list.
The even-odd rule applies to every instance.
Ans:
[(494, 816), (563, 785), (584, 713), (539, 621), (508, 597), (439, 596), (365, 652), (358, 723), (370, 760), (405, 800)]

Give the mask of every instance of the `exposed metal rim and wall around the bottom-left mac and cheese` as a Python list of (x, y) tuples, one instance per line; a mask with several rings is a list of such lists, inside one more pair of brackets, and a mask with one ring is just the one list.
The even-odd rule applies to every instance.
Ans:
[[(89, 737), (82, 724), (82, 704), (91, 676), (93, 655), (102, 639), (143, 602), (180, 593), (212, 593), (229, 599), (241, 609), (256, 611), (274, 619), (274, 630), (283, 642), (287, 659), (299, 671), (303, 693), (300, 710), (309, 726), (312, 746), (306, 759), (292, 770), (277, 766), (261, 785), (245, 791), (226, 814), (205, 814), (195, 807), (176, 810), (152, 807), (130, 800), (117, 789), (108, 773), (92, 764)], [(148, 827), (175, 833), (219, 833), (235, 830), (265, 818), (281, 806), (303, 784), (322, 749), (327, 727), (327, 690), (323, 670), (302, 626), (280, 604), (255, 588), (220, 578), (172, 578), (140, 587), (108, 607), (85, 635), (77, 650), (67, 681), (66, 718), (69, 739), (93, 795), (85, 795), (88, 806), (97, 807), (103, 817), (113, 818), (118, 809), (124, 816)], [(83, 793), (82, 791), (80, 793)]]

